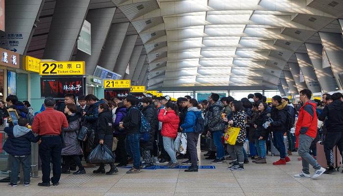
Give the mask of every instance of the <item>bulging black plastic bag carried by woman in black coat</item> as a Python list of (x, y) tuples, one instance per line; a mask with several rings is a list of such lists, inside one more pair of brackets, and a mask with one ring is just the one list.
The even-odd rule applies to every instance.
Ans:
[(106, 145), (99, 144), (94, 150), (88, 155), (87, 163), (89, 164), (108, 164), (114, 163), (116, 157), (113, 155)]

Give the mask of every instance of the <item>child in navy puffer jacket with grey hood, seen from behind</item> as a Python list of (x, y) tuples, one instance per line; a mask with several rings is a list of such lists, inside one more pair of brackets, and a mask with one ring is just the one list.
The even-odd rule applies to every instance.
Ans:
[(30, 185), (31, 142), (36, 143), (41, 137), (39, 135), (35, 137), (32, 131), (27, 128), (27, 125), (27, 119), (19, 118), (18, 125), (5, 127), (4, 129), (4, 132), (8, 134), (8, 139), (3, 145), (3, 149), (13, 157), (11, 181), (8, 183), (10, 187), (17, 186), (20, 163), (23, 166), (24, 185)]

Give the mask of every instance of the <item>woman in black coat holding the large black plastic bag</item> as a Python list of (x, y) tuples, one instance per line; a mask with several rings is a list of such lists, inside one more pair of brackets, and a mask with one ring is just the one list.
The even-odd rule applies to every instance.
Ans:
[[(98, 107), (99, 118), (96, 123), (96, 130), (94, 132), (94, 145), (104, 144), (109, 149), (112, 149), (113, 145), (113, 130), (112, 130), (112, 109), (108, 103), (100, 103)], [(114, 163), (110, 163), (111, 169), (106, 172), (107, 175), (112, 173), (117, 173), (118, 169)], [(105, 173), (104, 164), (100, 164), (98, 170), (93, 171), (93, 173)]]

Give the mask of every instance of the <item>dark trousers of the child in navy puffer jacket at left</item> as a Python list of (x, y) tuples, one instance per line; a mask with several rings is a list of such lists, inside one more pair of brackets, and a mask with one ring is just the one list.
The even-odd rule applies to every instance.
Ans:
[(12, 172), (11, 172), (11, 183), (17, 184), (18, 175), (20, 169), (20, 163), (22, 163), (24, 172), (24, 182), (30, 182), (30, 172), (31, 172), (31, 155), (24, 156), (13, 156), (12, 158)]

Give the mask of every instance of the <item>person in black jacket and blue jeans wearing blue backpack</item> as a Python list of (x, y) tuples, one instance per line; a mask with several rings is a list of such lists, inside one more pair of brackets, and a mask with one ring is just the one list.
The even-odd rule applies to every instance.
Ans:
[(123, 122), (119, 123), (119, 127), (126, 130), (126, 151), (133, 159), (133, 167), (126, 173), (140, 173), (140, 170), (143, 169), (141, 152), (139, 149), (139, 142), (141, 139), (141, 113), (138, 108), (135, 107), (137, 102), (138, 99), (132, 95), (128, 95), (124, 98), (124, 105), (127, 107), (127, 113)]

